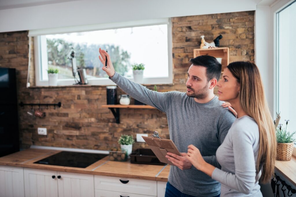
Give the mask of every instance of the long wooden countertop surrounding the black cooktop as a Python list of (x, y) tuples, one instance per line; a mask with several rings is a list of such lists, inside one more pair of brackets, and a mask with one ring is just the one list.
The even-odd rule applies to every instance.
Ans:
[[(61, 151), (48, 149), (26, 149), (4, 157), (0, 157), (0, 165), (91, 175), (115, 176), (122, 178), (136, 178), (142, 180), (168, 181), (169, 166), (132, 164), (130, 162), (114, 162), (109, 161), (108, 156), (86, 168), (34, 164), (34, 162), (58, 152)], [(164, 172), (162, 172), (163, 170)]]

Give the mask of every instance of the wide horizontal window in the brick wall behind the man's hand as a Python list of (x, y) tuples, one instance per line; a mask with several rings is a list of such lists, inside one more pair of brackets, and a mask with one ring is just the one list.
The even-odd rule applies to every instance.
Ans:
[[(58, 85), (75, 83), (72, 61), (67, 58), (75, 51), (77, 67), (86, 69), (89, 84), (109, 85), (99, 61), (99, 48), (108, 50), (115, 70), (132, 79), (132, 64), (145, 64), (144, 84), (172, 83), (171, 27), (168, 19), (136, 22), (136, 25), (109, 24), (97, 27), (30, 31), (35, 36), (36, 85), (46, 86), (47, 70), (59, 69)], [(54, 33), (52, 33), (54, 32)], [(61, 32), (61, 33), (59, 33)], [(65, 33), (66, 32), (66, 33)], [(42, 35), (38, 35), (42, 34)], [(75, 76), (79, 79), (78, 74)]]

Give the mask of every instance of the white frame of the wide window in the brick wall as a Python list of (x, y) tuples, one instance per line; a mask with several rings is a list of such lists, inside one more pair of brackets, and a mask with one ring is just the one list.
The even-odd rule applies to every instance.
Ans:
[[(70, 33), (70, 32), (84, 32), (94, 30), (107, 30), (125, 27), (140, 27), (148, 25), (168, 25), (168, 77), (144, 77), (143, 84), (172, 84), (173, 83), (173, 58), (172, 58), (172, 26), (170, 18), (163, 19), (152, 19), (152, 20), (141, 20), (121, 23), (108, 23), (99, 25), (84, 25), (75, 27), (61, 27), (61, 28), (50, 28), (41, 30), (30, 30), (28, 36), (34, 37), (34, 59), (35, 59), (35, 79), (36, 86), (48, 86), (48, 80), (42, 80), (41, 64), (47, 64), (47, 49), (46, 47), (41, 48), (41, 43), (44, 42), (43, 35), (48, 34), (59, 34), (59, 33)], [(46, 41), (46, 40), (45, 40)], [(46, 45), (43, 45), (46, 46)], [(41, 58), (41, 56), (43, 58)], [(41, 62), (43, 61), (43, 62)], [(133, 81), (133, 78), (128, 78)], [(108, 78), (94, 78), (88, 79), (89, 85), (115, 85)], [(74, 79), (59, 79), (58, 86), (70, 86), (75, 84)]]

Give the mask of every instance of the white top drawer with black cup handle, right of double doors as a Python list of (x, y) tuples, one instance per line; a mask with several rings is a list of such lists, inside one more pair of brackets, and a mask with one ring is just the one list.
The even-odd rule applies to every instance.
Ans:
[(152, 180), (95, 175), (94, 188), (98, 190), (157, 196), (157, 182)]

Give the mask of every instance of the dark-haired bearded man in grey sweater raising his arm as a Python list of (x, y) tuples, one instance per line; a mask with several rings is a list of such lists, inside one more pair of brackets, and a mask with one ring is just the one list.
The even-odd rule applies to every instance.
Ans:
[(131, 97), (166, 113), (170, 139), (176, 144), (182, 156), (168, 153), (166, 156), (175, 166), (170, 167), (166, 186), (166, 197), (220, 196), (220, 183), (192, 167), (186, 159), (187, 146), (196, 146), (206, 162), (220, 167), (215, 154), (222, 144), (235, 117), (214, 95), (214, 87), (221, 75), (221, 64), (212, 56), (192, 58), (188, 70), (185, 92), (155, 92), (140, 84), (131, 82), (115, 72), (110, 56), (99, 49), (99, 59), (107, 68), (103, 70)]

